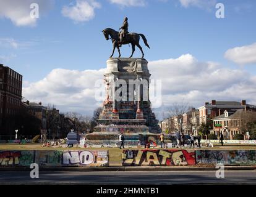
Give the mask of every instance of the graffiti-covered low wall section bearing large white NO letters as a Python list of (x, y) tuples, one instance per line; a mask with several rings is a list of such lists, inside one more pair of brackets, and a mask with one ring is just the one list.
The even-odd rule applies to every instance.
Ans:
[(0, 167), (30, 166), (37, 163), (45, 167), (62, 166), (108, 166), (108, 150), (36, 150), (0, 151)]

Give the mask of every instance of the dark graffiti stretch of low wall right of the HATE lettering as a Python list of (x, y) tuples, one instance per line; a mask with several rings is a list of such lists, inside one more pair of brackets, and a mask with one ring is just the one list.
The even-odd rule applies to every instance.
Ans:
[(255, 150), (197, 150), (196, 160), (200, 164), (256, 164)]

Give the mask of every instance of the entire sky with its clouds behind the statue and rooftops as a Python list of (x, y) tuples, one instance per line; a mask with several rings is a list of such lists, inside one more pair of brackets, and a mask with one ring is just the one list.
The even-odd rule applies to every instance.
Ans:
[[(219, 2), (224, 18), (216, 17)], [(38, 18), (30, 16), (33, 3)], [(23, 75), (25, 99), (92, 115), (102, 103), (95, 81), (112, 51), (101, 30), (118, 30), (124, 17), (150, 45), (142, 42), (151, 78), (163, 88), (157, 115), (181, 101), (256, 105), (256, 1), (0, 0), (0, 63)], [(123, 57), (130, 53), (122, 46)]]

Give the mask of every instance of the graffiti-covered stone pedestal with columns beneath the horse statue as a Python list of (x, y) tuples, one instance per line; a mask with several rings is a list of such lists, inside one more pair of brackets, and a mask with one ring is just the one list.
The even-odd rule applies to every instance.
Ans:
[(157, 142), (161, 129), (151, 111), (147, 60), (109, 58), (106, 64), (106, 99), (95, 131), (87, 135), (88, 145), (116, 145), (121, 132), (125, 145)]

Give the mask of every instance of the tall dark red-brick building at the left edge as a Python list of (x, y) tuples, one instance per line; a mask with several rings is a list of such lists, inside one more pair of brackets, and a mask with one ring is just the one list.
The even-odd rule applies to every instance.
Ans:
[(22, 75), (0, 64), (0, 135), (9, 134), (6, 121), (20, 112)]

